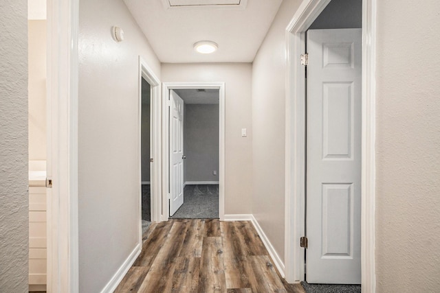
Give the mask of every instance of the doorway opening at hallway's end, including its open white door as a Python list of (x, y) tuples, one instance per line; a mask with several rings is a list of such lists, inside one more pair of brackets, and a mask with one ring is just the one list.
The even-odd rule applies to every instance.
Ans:
[(170, 217), (219, 218), (219, 89), (175, 89), (170, 99)]

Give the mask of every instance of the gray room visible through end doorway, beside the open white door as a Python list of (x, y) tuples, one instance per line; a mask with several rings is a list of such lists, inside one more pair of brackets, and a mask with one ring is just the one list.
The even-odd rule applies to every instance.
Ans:
[[(179, 207), (173, 207), (177, 209), (175, 212), (171, 210), (172, 204), (170, 204), (170, 217), (218, 219), (219, 89), (171, 91), (171, 95), (176, 95), (183, 101), (182, 156), (184, 159), (182, 159), (183, 203)], [(175, 132), (174, 126), (175, 124), (170, 124), (170, 133)], [(170, 139), (173, 148), (175, 145), (173, 135)], [(173, 155), (170, 160), (173, 160)], [(171, 172), (173, 173), (173, 169)]]

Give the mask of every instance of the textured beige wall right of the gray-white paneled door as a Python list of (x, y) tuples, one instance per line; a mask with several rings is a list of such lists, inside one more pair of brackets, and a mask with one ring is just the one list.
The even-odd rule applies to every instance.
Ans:
[(377, 292), (440, 288), (440, 1), (377, 1)]

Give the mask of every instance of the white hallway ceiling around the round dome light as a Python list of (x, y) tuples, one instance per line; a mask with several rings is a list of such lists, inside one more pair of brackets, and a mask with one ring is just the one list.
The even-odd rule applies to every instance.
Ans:
[[(245, 5), (212, 5), (210, 0), (210, 5), (168, 8), (166, 1), (179, 2), (124, 0), (159, 60), (184, 63), (252, 62), (282, 0), (239, 1)], [(130, 32), (125, 34), (128, 38)], [(212, 40), (219, 49), (198, 54), (193, 45), (199, 40)]]

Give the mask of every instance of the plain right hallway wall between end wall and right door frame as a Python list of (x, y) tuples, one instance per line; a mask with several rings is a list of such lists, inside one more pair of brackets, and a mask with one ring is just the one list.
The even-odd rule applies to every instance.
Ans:
[(252, 69), (252, 213), (284, 259), (285, 201), (285, 28), (300, 1), (285, 0)]

